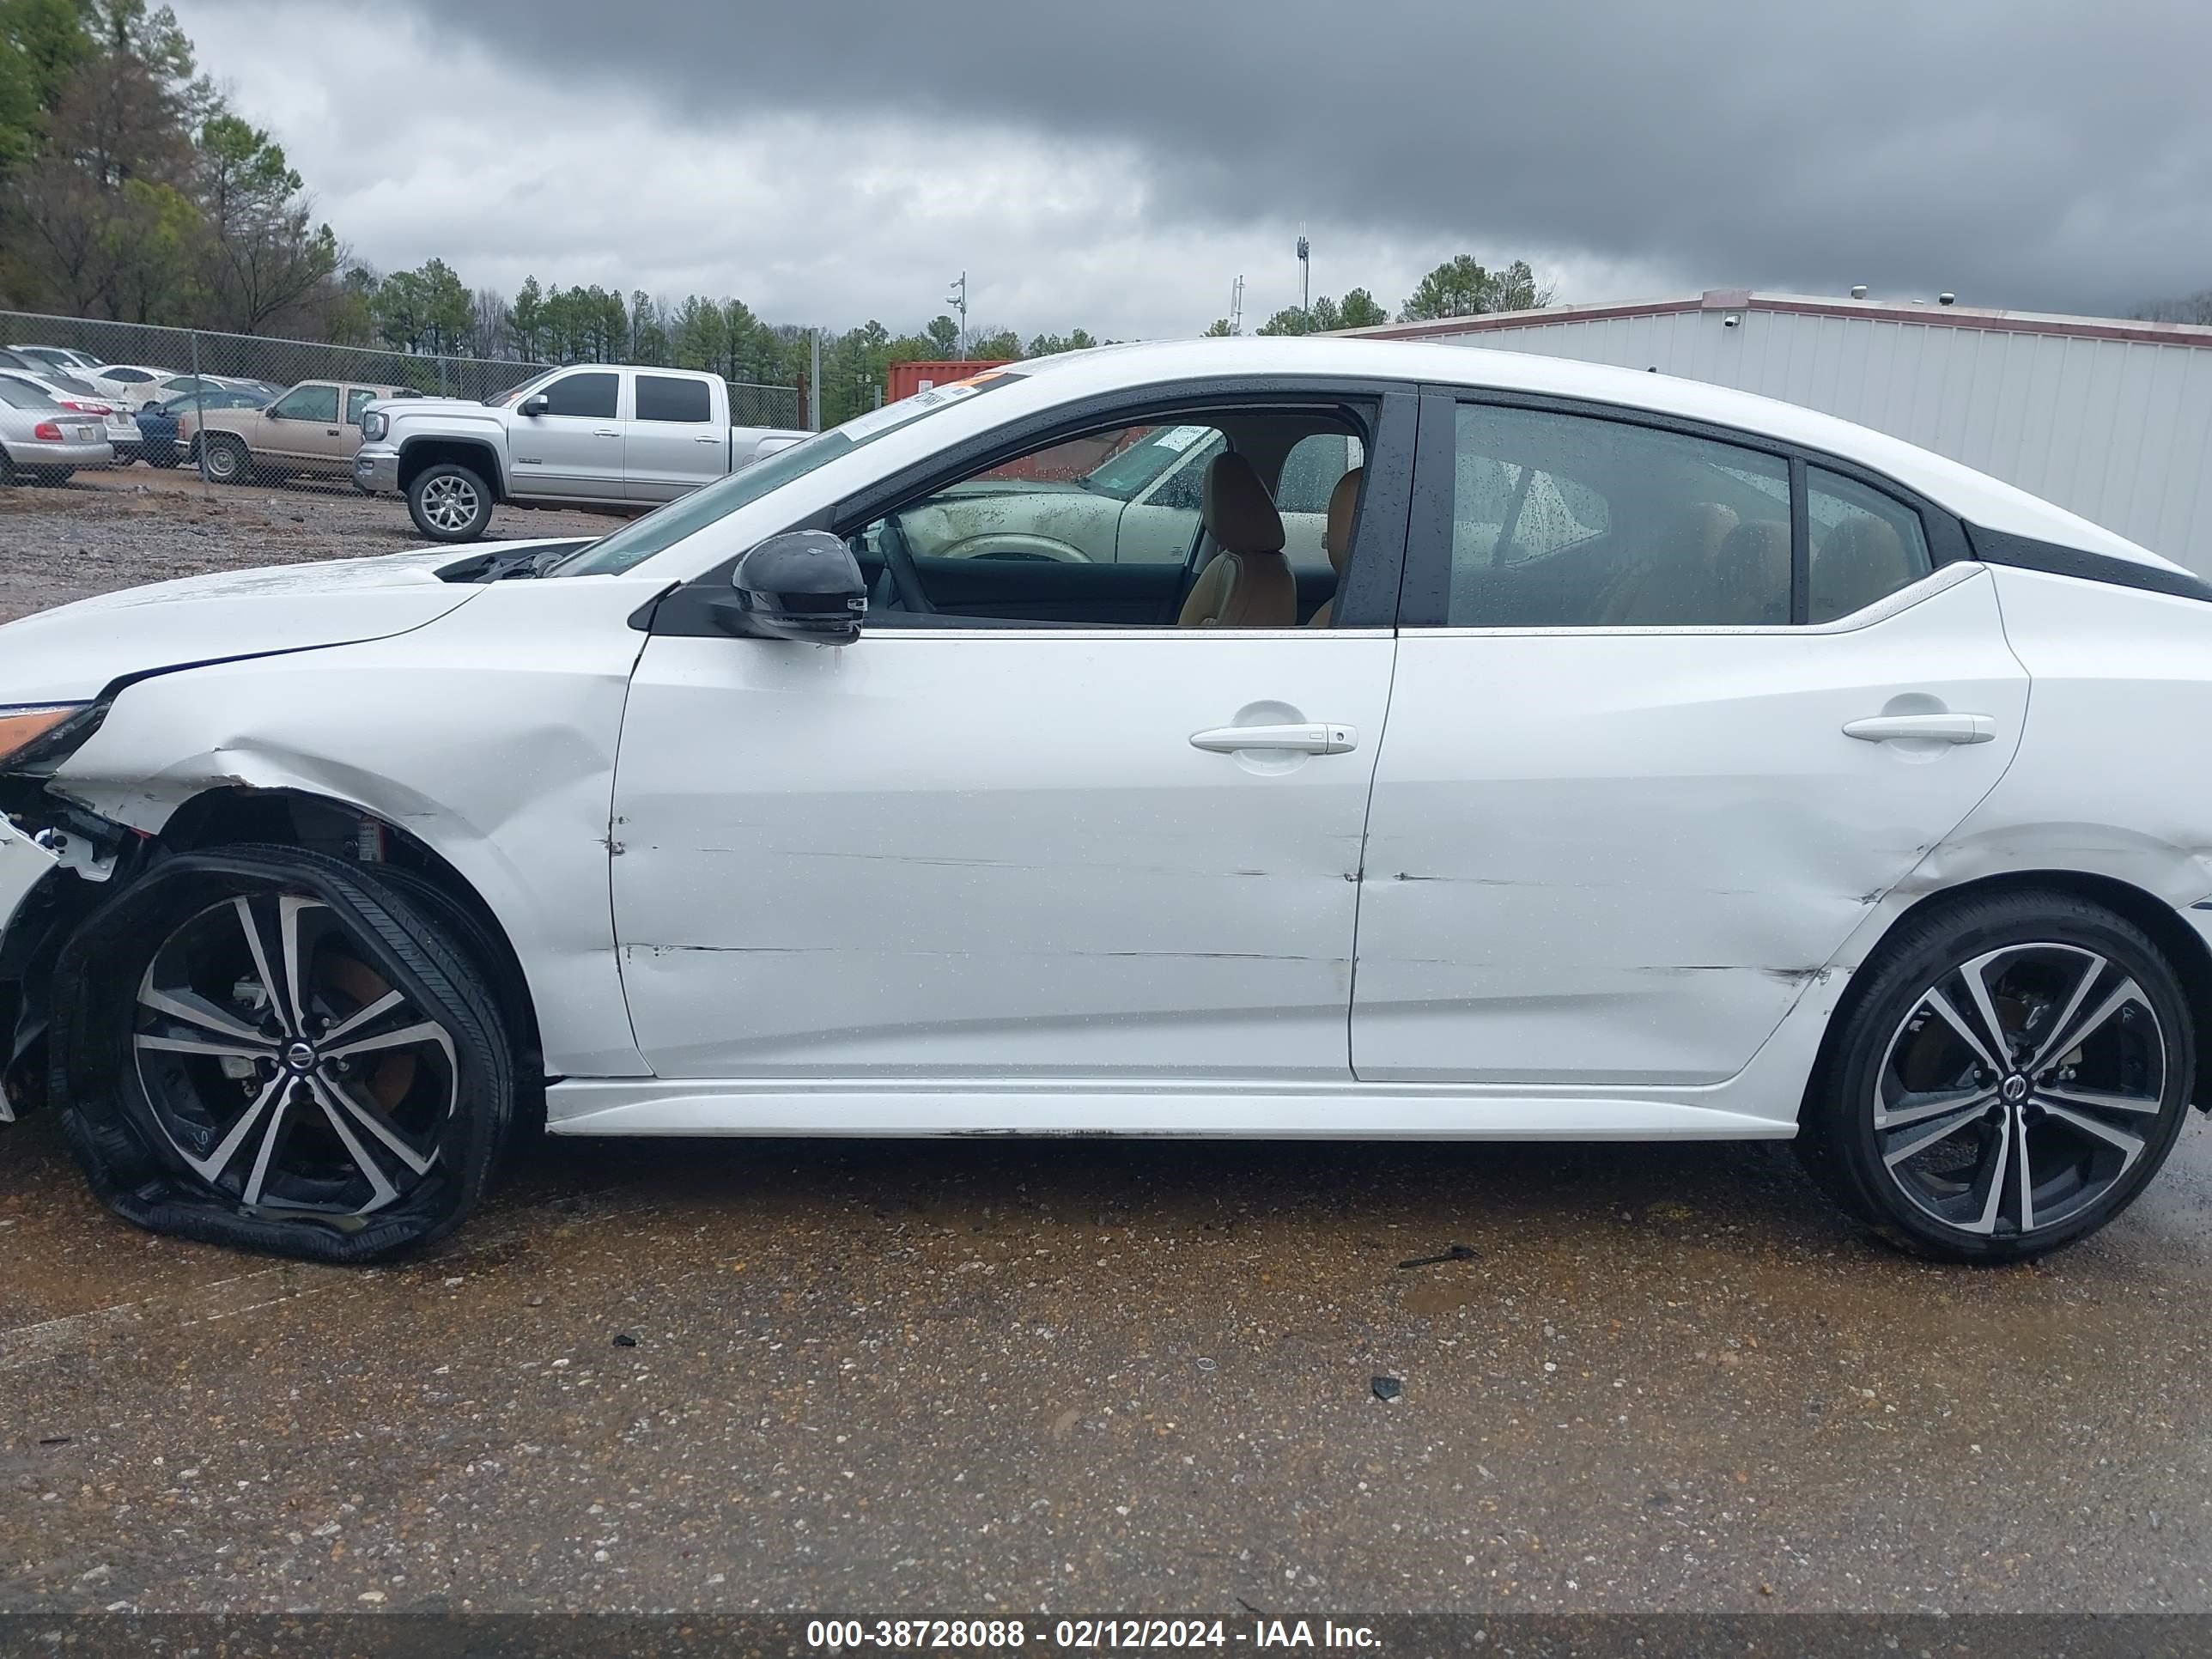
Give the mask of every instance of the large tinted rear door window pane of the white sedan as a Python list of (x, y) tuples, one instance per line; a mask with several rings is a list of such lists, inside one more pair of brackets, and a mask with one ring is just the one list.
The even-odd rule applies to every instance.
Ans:
[(1790, 467), (1679, 431), (1462, 405), (1449, 622), (1790, 622)]

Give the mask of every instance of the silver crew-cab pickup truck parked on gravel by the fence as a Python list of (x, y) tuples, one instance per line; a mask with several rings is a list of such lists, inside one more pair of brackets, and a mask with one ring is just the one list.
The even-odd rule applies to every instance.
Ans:
[(354, 484), (405, 495), (434, 542), (473, 542), (500, 502), (648, 509), (805, 436), (732, 427), (714, 374), (580, 363), (482, 403), (372, 403)]

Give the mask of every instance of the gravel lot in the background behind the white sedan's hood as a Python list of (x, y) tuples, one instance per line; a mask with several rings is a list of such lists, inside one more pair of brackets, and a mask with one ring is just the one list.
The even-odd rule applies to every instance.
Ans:
[[(606, 535), (617, 522), (502, 507), (491, 533)], [(407, 507), (352, 484), (219, 489), (184, 469), (77, 473), (64, 489), (0, 491), (0, 622), (173, 575), (411, 546), (427, 542)]]

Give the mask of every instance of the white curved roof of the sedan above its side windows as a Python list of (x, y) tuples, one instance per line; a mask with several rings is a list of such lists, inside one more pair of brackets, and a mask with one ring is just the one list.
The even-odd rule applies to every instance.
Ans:
[(1893, 478), (1969, 524), (2039, 542), (2062, 542), (2168, 571), (2183, 566), (2137, 546), (2101, 524), (1980, 473), (1887, 431), (1805, 409), (1752, 392), (1683, 380), (1670, 374), (1621, 369), (1608, 363), (1493, 352), (1433, 341), (1378, 341), (1340, 336), (1228, 336), (1102, 345), (1086, 352), (1009, 363), (1011, 374), (1051, 376), (1057, 398), (1210, 376), (1327, 374), (1360, 380), (1440, 383), (1467, 389), (1522, 392), (1575, 398), (1621, 409), (1646, 409), (1714, 427), (1736, 427), (1778, 442), (1827, 451)]

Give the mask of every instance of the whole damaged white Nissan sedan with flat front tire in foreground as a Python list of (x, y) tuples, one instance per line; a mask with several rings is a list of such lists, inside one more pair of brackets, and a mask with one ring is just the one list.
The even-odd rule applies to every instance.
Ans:
[[(1170, 557), (902, 533), (1161, 431), (1212, 449)], [(1316, 438), (1325, 546), (1285, 557)], [(2212, 586), (1805, 409), (1082, 352), (599, 542), (7, 626), (0, 1062), (119, 1214), (330, 1261), (460, 1223), (538, 1102), (1794, 1139), (1898, 1243), (2033, 1256), (2199, 1095), (2208, 664)]]

